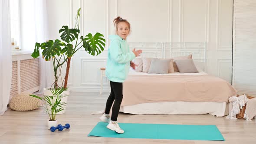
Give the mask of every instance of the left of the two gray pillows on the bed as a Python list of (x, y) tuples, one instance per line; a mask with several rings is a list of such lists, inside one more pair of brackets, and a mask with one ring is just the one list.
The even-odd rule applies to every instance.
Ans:
[(148, 73), (167, 74), (171, 59), (151, 59)]

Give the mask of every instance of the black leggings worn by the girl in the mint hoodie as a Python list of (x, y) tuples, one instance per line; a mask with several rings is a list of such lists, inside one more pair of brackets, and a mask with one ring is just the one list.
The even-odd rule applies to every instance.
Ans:
[(109, 114), (110, 108), (114, 102), (112, 108), (111, 121), (117, 121), (118, 112), (123, 99), (123, 83), (110, 81), (111, 92), (107, 100), (105, 114)]

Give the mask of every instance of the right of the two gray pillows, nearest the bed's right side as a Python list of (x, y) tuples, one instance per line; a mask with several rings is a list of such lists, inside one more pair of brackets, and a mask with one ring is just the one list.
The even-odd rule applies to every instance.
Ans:
[(180, 73), (197, 73), (197, 68), (193, 62), (193, 59), (177, 59), (176, 65)]

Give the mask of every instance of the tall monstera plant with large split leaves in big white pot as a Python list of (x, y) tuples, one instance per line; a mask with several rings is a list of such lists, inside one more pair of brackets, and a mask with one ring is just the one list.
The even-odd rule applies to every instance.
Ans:
[[(32, 53), (33, 58), (39, 57), (39, 49), (42, 49), (42, 57), (46, 61), (53, 62), (54, 71), (54, 82), (50, 88), (44, 88), (44, 95), (50, 95), (51, 90), (59, 90), (60, 88), (67, 88), (67, 82), (69, 77), (70, 61), (75, 52), (83, 48), (87, 53), (92, 56), (99, 55), (105, 47), (105, 39), (101, 33), (96, 33), (92, 36), (91, 33), (86, 36), (80, 36), (80, 10), (77, 11), (77, 16), (75, 18), (75, 28), (69, 29), (68, 26), (62, 26), (59, 29), (61, 40), (48, 40), (45, 43), (36, 43), (34, 52)], [(66, 66), (66, 74), (64, 79), (61, 76), (62, 66)], [(59, 73), (58, 73), (59, 72)], [(61, 85), (58, 83), (61, 79)], [(69, 95), (67, 90), (65, 95)], [(62, 99), (62, 102), (67, 103), (68, 97)], [(59, 112), (58, 114), (65, 113), (65, 110)]]

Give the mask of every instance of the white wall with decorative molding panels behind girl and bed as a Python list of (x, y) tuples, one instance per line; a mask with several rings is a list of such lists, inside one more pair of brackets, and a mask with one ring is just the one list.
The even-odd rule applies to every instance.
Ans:
[[(62, 25), (74, 26), (81, 7), (81, 34), (102, 33), (108, 46), (112, 21), (121, 16), (131, 23), (128, 42), (207, 42), (207, 72), (231, 82), (232, 0), (47, 0), (47, 5), (51, 39), (59, 39)], [(106, 58), (107, 49), (100, 56), (77, 52), (70, 89), (98, 92)]]

